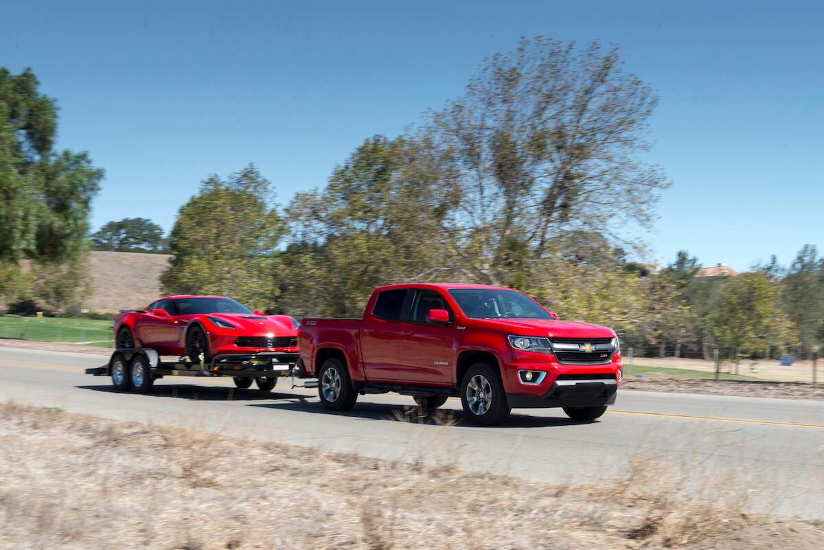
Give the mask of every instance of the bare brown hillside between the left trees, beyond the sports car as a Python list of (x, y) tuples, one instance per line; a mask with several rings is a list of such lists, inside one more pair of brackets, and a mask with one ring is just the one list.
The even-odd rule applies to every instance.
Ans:
[(148, 305), (160, 296), (160, 276), (171, 255), (91, 252), (92, 292), (86, 307), (117, 313)]

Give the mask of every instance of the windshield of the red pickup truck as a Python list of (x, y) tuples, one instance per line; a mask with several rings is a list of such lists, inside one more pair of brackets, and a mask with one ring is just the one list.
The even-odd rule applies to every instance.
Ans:
[(449, 293), (471, 319), (553, 319), (544, 308), (518, 291), (453, 288)]

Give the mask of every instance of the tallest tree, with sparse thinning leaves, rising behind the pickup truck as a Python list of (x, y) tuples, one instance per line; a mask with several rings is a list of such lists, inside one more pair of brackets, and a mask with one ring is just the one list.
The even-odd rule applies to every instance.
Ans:
[(617, 49), (539, 36), (495, 54), (419, 132), (454, 198), (442, 217), (452, 261), (478, 282), (508, 284), (513, 266), (544, 259), (559, 235), (625, 240), (617, 227), (648, 226), (668, 185), (639, 158), (656, 105)]

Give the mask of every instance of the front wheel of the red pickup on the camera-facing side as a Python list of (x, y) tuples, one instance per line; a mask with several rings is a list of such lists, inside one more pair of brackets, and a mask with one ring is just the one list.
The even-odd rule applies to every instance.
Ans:
[[(470, 401), (472, 398), (476, 400)], [(461, 380), (461, 405), (466, 417), (473, 422), (493, 426), (506, 420), (512, 408), (507, 403), (497, 367), (477, 363), (466, 371)]]

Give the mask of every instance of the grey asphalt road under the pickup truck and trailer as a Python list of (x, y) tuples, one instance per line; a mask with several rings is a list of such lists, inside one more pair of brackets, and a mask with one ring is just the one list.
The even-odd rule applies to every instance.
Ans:
[(284, 380), (263, 394), (228, 379), (168, 377), (151, 395), (119, 394), (110, 379), (83, 374), (105, 361), (0, 347), (0, 400), (552, 483), (654, 483), (639, 472), (666, 464), (686, 492), (722, 487), (756, 510), (824, 519), (824, 402), (626, 390), (599, 422), (530, 409), (483, 427), (450, 399), (444, 408), (456, 423), (443, 426), (418, 422), (412, 399), (392, 394), (330, 413), (316, 389), (289, 389)]

